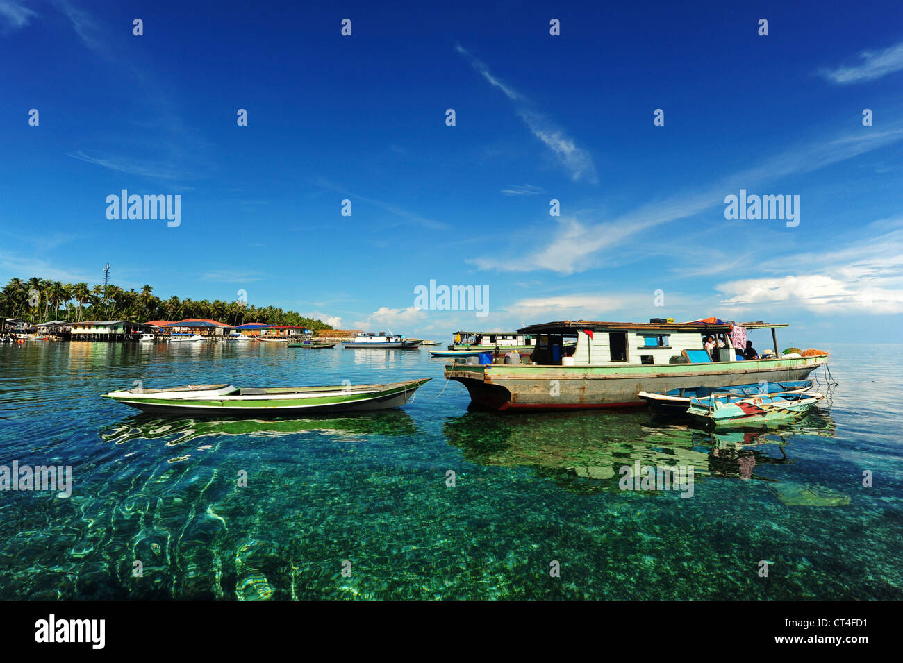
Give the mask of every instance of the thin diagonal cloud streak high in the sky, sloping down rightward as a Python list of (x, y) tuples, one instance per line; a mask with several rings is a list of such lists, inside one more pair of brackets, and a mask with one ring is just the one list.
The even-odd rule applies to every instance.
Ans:
[(467, 58), (470, 66), (489, 81), (490, 85), (498, 87), (506, 97), (517, 103), (517, 115), (520, 115), (530, 132), (555, 153), (564, 168), (570, 171), (573, 180), (586, 180), (593, 184), (598, 182), (596, 169), (589, 152), (578, 147), (573, 138), (545, 114), (536, 111), (527, 97), (496, 78), (489, 71), (486, 63), (471, 54), (461, 44), (455, 45), (455, 51)]

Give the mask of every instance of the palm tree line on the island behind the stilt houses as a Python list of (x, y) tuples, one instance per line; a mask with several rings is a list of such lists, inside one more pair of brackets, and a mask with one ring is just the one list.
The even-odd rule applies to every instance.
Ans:
[(304, 318), (294, 311), (272, 306), (256, 308), (243, 301), (222, 299), (160, 299), (154, 288), (145, 285), (140, 292), (124, 290), (108, 284), (89, 287), (88, 283), (61, 283), (32, 277), (28, 281), (11, 279), (0, 290), (0, 311), (4, 318), (21, 318), (30, 322), (48, 320), (149, 320), (178, 321), (185, 318), (206, 318), (233, 327), (246, 322), (267, 325), (293, 325), (312, 331), (331, 329), (322, 320)]

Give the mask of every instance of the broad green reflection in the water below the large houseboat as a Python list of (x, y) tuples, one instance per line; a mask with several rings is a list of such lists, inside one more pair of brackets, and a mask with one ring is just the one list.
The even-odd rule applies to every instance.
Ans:
[[(648, 412), (518, 413), (498, 417), (468, 412), (449, 419), (442, 430), (464, 457), (477, 465), (523, 466), (576, 493), (619, 491), (621, 468), (675, 467), (705, 477), (765, 478), (759, 465), (782, 465), (791, 437), (831, 435), (833, 423), (822, 421), (781, 428), (705, 431), (685, 422), (654, 419)], [(827, 417), (825, 420), (824, 418)], [(806, 423), (810, 425), (805, 425)]]

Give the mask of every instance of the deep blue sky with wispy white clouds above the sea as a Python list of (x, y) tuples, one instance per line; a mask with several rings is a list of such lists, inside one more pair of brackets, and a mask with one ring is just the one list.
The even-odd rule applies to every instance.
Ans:
[[(899, 340), (903, 5), (303, 5), (0, 0), (0, 281), (110, 262), (442, 340), (709, 316)], [(182, 196), (181, 225), (107, 219), (121, 189)], [(799, 196), (799, 225), (726, 219), (740, 189)], [(415, 308), (430, 280), (489, 315)]]

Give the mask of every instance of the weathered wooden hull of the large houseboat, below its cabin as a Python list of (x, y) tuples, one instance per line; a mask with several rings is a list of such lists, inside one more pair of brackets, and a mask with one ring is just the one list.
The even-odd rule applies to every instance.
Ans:
[(446, 364), (445, 377), (467, 387), (471, 405), (479, 410), (633, 408), (646, 404), (640, 391), (805, 380), (827, 361), (826, 355), (818, 355), (714, 364)]

